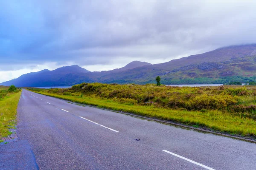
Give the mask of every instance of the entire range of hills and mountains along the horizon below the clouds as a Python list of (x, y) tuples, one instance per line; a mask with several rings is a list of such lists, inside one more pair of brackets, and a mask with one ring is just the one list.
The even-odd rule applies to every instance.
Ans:
[(0, 85), (70, 86), (81, 82), (210, 84), (256, 80), (256, 44), (218, 48), (161, 64), (134, 61), (112, 71), (90, 72), (78, 65), (29, 73)]

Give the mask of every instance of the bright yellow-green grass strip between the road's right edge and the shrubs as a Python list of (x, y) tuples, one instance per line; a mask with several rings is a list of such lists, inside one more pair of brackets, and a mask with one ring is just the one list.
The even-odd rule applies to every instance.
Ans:
[(123, 104), (115, 99), (102, 99), (89, 96), (71, 96), (35, 91), (39, 94), (66, 99), (72, 102), (93, 105), (99, 108), (107, 108), (113, 111), (134, 113), (140, 116), (170, 120), (193, 127), (206, 127), (222, 133), (230, 133), (241, 136), (256, 137), (256, 121), (254, 119), (235, 116), (219, 110), (186, 111), (167, 108), (157, 108), (154, 105)]

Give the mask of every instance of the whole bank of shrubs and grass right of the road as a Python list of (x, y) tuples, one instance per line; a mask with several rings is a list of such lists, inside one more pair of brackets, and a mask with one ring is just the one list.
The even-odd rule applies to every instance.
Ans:
[(166, 87), (82, 83), (69, 89), (30, 89), (73, 102), (256, 137), (256, 88)]

